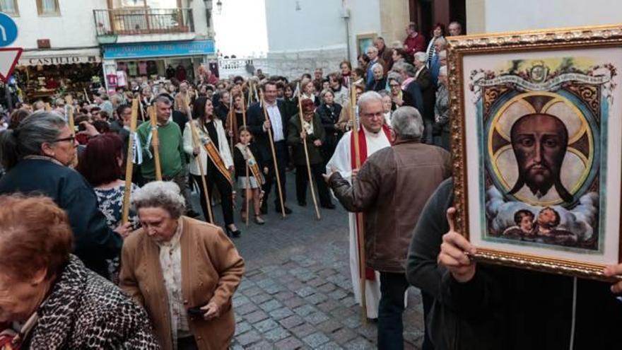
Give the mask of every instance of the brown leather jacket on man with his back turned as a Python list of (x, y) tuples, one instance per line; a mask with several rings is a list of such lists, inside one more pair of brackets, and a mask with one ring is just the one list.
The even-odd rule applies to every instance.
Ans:
[(353, 185), (339, 173), (329, 179), (348, 211), (363, 211), (365, 259), (380, 272), (406, 272), (406, 255), (423, 206), (451, 175), (450, 153), (415, 140), (396, 141), (370, 156)]

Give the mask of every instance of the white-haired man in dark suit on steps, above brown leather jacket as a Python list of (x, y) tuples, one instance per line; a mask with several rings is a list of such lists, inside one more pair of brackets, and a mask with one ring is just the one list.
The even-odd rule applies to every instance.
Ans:
[(423, 110), (421, 116), (423, 117), (423, 142), (426, 144), (432, 143), (432, 124), (434, 122), (434, 102), (435, 102), (435, 88), (432, 83), (432, 72), (426, 67), (428, 62), (428, 54), (426, 52), (416, 52), (415, 54), (415, 78), (416, 82), (421, 88), (421, 96), (423, 97)]

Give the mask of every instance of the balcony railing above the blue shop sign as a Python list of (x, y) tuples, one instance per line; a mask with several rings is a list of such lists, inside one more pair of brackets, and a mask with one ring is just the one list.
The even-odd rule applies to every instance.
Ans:
[(98, 37), (194, 32), (190, 8), (93, 10), (93, 16)]

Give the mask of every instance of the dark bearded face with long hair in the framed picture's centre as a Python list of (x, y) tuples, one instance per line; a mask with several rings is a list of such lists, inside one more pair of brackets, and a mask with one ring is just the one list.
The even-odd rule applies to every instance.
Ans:
[(544, 113), (524, 115), (512, 125), (510, 141), (518, 165), (518, 179), (508, 194), (515, 194), (526, 185), (541, 199), (554, 186), (564, 202), (573, 202), (573, 195), (561, 183), (568, 129), (558, 117)]

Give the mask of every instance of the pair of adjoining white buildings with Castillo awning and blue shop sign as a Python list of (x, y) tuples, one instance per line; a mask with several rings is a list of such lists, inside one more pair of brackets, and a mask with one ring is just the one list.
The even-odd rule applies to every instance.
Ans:
[(194, 79), (215, 58), (211, 0), (4, 0), (26, 100), (81, 98), (136, 76)]

